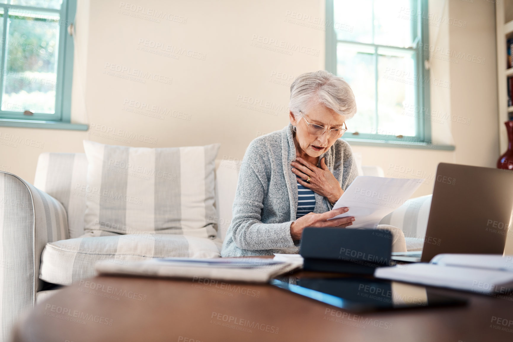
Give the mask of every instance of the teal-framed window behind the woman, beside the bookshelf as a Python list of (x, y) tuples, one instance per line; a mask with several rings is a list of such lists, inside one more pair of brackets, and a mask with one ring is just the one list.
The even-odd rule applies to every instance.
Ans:
[(326, 70), (358, 107), (344, 139), (430, 143), (426, 13), (427, 0), (327, 0)]

